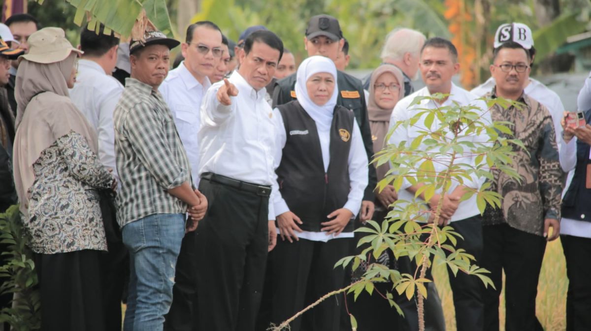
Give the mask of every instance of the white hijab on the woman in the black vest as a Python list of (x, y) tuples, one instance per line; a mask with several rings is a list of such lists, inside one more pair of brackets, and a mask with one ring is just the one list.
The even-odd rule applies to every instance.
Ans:
[[(308, 95), (306, 89), (306, 82), (308, 79), (317, 73), (329, 73), (335, 79), (335, 90), (333, 91), (330, 100), (323, 106), (315, 104)], [(314, 55), (304, 60), (300, 67), (297, 68), (296, 76), (296, 96), (301, 107), (306, 110), (306, 113), (312, 117), (316, 122), (316, 127), (319, 130), (330, 130), (332, 124), (333, 112), (335, 111), (336, 99), (339, 95), (339, 86), (336, 82), (336, 67), (330, 58), (320, 55)]]

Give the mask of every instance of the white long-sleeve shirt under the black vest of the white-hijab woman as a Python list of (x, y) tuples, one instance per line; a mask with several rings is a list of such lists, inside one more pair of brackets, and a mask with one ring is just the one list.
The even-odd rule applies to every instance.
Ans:
[[(275, 121), (275, 126), (277, 126), (277, 129), (275, 131), (275, 143), (277, 145), (275, 145), (274, 153), (275, 169), (277, 169), (281, 163), (283, 148), (285, 147), (285, 143), (287, 142), (287, 133), (285, 132), (283, 117), (281, 116), (281, 112), (277, 108), (273, 110), (273, 119)], [(355, 216), (359, 213), (359, 209), (361, 208), (363, 192), (365, 191), (365, 187), (368, 185), (369, 161), (367, 153), (365, 152), (365, 147), (363, 146), (363, 140), (361, 137), (361, 132), (359, 131), (359, 125), (357, 124), (357, 120), (353, 120), (353, 133), (351, 135), (351, 148), (349, 151), (348, 159), (350, 191), (349, 195), (347, 196), (347, 202), (345, 203), (343, 208), (349, 209), (349, 211), (353, 214), (353, 218), (355, 218)], [(322, 151), (324, 172), (327, 172), (330, 163), (330, 129), (320, 130), (317, 126), (317, 131), (320, 140), (320, 150)], [(275, 195), (274, 200), (275, 215), (279, 216), (284, 212), (289, 211), (290, 209), (287, 203), (285, 202), (285, 199), (283, 199), (281, 193), (279, 192), (279, 185), (277, 181), (275, 181), (273, 185), (273, 190), (277, 192), (277, 195)], [(339, 235), (328, 235), (326, 234), (326, 232), (304, 231), (297, 232), (297, 236), (299, 238), (304, 238), (307, 240), (326, 242), (333, 238), (353, 237), (353, 232), (341, 232)]]

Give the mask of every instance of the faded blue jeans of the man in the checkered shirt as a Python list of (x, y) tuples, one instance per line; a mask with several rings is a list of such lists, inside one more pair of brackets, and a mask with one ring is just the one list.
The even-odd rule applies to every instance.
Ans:
[(173, 301), (174, 269), (184, 236), (185, 214), (154, 214), (126, 224), (129, 295), (124, 331), (162, 331)]

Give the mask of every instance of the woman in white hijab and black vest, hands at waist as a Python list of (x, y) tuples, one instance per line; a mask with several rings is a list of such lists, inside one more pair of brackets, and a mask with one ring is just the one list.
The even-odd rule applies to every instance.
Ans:
[[(343, 286), (344, 270), (334, 266), (348, 254), (353, 218), (368, 184), (368, 159), (353, 113), (336, 106), (338, 90), (335, 64), (309, 57), (297, 71), (297, 100), (272, 114), (281, 193), (275, 200), (281, 240), (270, 257), (273, 323)], [(291, 323), (291, 330), (339, 330), (342, 298), (323, 301)]]

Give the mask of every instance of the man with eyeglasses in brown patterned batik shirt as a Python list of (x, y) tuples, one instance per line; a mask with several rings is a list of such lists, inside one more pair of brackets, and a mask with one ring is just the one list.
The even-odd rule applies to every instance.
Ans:
[[(535, 317), (538, 278), (547, 241), (560, 233), (562, 171), (556, 134), (548, 109), (524, 91), (531, 70), (530, 53), (514, 41), (495, 48), (491, 75), (496, 86), (486, 97), (518, 101), (520, 109), (491, 108), (495, 121), (512, 123), (509, 139), (519, 139), (512, 166), (521, 176), (515, 181), (493, 171), (491, 190), (502, 196), (502, 206), (483, 215), (484, 249), (479, 265), (491, 271), (495, 288), (483, 290), (484, 330), (499, 330), (499, 296), (505, 271), (505, 330), (542, 330)], [(550, 228), (552, 231), (550, 232)]]

